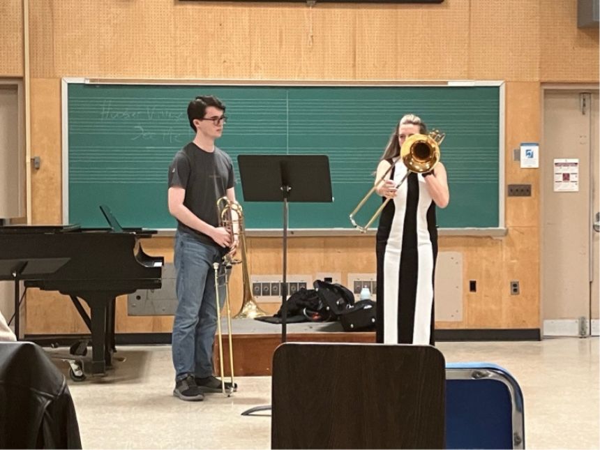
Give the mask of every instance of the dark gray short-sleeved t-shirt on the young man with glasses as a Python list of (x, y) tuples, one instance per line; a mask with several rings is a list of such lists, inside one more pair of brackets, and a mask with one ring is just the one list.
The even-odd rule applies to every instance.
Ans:
[[(183, 204), (204, 222), (218, 226), (216, 202), (235, 186), (232, 160), (225, 151), (202, 150), (190, 142), (179, 150), (169, 167), (169, 187), (180, 186), (186, 190)], [(200, 241), (213, 246), (218, 244), (206, 234), (193, 230), (177, 220), (177, 229), (195, 235)]]

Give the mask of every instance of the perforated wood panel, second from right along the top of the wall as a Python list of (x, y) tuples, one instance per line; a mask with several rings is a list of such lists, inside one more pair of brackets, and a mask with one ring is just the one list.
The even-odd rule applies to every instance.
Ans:
[(471, 80), (539, 78), (539, 0), (470, 2)]

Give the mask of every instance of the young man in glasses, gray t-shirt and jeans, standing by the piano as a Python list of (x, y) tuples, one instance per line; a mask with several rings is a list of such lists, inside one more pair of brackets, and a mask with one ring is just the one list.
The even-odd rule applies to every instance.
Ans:
[[(205, 392), (221, 391), (212, 364), (217, 327), (213, 263), (221, 262), (223, 255), (237, 246), (230, 232), (219, 226), (216, 204), (224, 195), (235, 201), (232, 160), (215, 146), (223, 134), (224, 114), (225, 105), (216, 97), (192, 100), (188, 119), (196, 135), (177, 152), (169, 167), (169, 212), (177, 218), (173, 395), (181, 400), (203, 400)], [(225, 389), (230, 388), (231, 384), (225, 383)]]

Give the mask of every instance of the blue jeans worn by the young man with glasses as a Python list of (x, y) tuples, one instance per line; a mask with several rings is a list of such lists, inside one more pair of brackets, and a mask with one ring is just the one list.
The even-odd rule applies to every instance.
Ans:
[[(217, 328), (215, 269), (220, 250), (191, 234), (175, 234), (177, 311), (173, 323), (172, 354), (175, 380), (187, 375), (213, 375), (213, 343)], [(222, 284), (222, 283), (221, 283)], [(220, 306), (225, 290), (219, 289)]]

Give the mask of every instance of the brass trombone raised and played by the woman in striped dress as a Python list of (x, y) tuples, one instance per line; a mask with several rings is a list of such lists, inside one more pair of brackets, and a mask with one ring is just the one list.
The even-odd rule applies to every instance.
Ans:
[(400, 180), (400, 183), (396, 184), (396, 188), (402, 186), (402, 183), (404, 183), (410, 172), (423, 174), (433, 170), (433, 167), (440, 162), (440, 144), (442, 144), (444, 137), (446, 137), (445, 133), (440, 133), (440, 130), (432, 130), (428, 135), (412, 135), (405, 140), (400, 148), (399, 158), (389, 166), (388, 170), (386, 170), (383, 176), (377, 180), (373, 185), (373, 188), (370, 188), (368, 193), (363, 197), (359, 204), (357, 204), (357, 207), (350, 213), (350, 222), (352, 222), (352, 225), (354, 225), (357, 230), (361, 233), (366, 233), (368, 227), (375, 222), (375, 219), (379, 217), (381, 211), (383, 211), (385, 205), (387, 205), (387, 202), (391, 200), (389, 197), (385, 199), (365, 225), (359, 225), (354, 219), (354, 216), (357, 215), (358, 211), (369, 200), (370, 196), (373, 195), (380, 183), (386, 179), (392, 168), (398, 163), (398, 160), (402, 160), (407, 168), (407, 172)]

